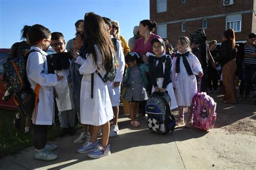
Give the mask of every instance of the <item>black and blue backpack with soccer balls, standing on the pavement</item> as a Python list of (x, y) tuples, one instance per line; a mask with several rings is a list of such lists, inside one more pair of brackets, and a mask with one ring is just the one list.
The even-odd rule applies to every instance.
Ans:
[(171, 112), (171, 97), (168, 92), (154, 92), (146, 104), (147, 127), (153, 132), (173, 132), (176, 121)]

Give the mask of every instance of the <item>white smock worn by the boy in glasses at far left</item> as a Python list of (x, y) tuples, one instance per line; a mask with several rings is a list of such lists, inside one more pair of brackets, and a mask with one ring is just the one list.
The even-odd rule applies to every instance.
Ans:
[(31, 84), (31, 89), (35, 90), (37, 83), (40, 85), (37, 117), (36, 121), (34, 121), (35, 111), (33, 111), (32, 123), (37, 125), (52, 125), (54, 122), (53, 86), (57, 84), (57, 75), (48, 74), (46, 60), (46, 55), (48, 54), (38, 47), (32, 46), (31, 49), (42, 53), (31, 52), (26, 63), (26, 74)]

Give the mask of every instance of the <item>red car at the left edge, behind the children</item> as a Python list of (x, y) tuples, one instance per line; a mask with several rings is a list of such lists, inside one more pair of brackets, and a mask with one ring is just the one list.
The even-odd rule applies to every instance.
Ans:
[[(14, 97), (11, 97), (9, 101), (3, 101), (2, 97), (5, 93), (4, 84), (3, 84), (3, 63), (6, 62), (8, 53), (10, 49), (8, 48), (0, 48), (0, 109), (7, 109), (7, 110), (17, 110), (17, 107), (14, 103)], [(53, 49), (48, 49), (48, 54), (55, 53)]]

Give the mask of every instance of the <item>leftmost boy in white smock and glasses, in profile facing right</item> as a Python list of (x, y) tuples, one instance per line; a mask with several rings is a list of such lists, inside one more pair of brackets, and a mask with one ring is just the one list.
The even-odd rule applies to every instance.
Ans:
[(39, 84), (39, 98), (35, 111), (32, 114), (34, 124), (34, 143), (36, 148), (35, 158), (39, 160), (55, 160), (57, 155), (51, 151), (57, 145), (46, 144), (47, 128), (54, 122), (53, 86), (63, 77), (56, 74), (48, 74), (46, 51), (51, 44), (51, 33), (43, 25), (33, 25), (28, 32), (28, 38), (32, 47), (26, 63), (26, 74), (31, 89), (35, 90)]

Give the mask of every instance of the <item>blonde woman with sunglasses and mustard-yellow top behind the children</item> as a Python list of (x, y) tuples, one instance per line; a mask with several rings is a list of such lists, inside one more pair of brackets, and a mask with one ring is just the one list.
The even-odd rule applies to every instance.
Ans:
[(110, 34), (121, 42), (124, 55), (128, 54), (130, 52), (130, 48), (124, 37), (120, 35), (119, 23), (116, 20), (112, 21), (112, 30), (110, 30)]

